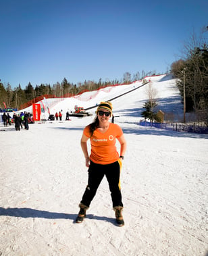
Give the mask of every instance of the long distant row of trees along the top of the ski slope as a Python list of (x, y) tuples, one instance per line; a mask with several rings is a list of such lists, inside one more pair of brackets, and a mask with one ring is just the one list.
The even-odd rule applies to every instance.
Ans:
[(125, 72), (123, 78), (120, 80), (115, 79), (102, 81), (100, 78), (98, 82), (95, 82), (94, 80), (85, 80), (83, 83), (79, 82), (78, 84), (73, 84), (68, 82), (66, 78), (63, 78), (62, 82), (56, 82), (52, 86), (51, 84), (41, 84), (34, 87), (30, 82), (28, 82), (28, 85), (24, 89), (20, 84), (18, 87), (12, 89), (9, 83), (5, 85), (0, 82), (0, 107), (4, 109), (6, 105), (10, 108), (20, 109), (20, 106), (24, 103), (42, 95), (51, 95), (53, 97), (71, 97), (84, 90), (95, 91), (98, 88), (107, 85), (122, 83), (129, 84), (136, 80), (140, 80), (145, 76), (151, 76), (153, 74), (155, 74), (155, 71), (142, 71), (141, 73), (136, 72), (136, 74), (133, 75), (131, 75), (130, 72)]

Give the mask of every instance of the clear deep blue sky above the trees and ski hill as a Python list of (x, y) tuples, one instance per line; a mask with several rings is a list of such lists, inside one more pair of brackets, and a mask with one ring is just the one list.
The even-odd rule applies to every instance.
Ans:
[(184, 41), (208, 26), (207, 9), (207, 0), (1, 0), (1, 82), (25, 88), (165, 73)]

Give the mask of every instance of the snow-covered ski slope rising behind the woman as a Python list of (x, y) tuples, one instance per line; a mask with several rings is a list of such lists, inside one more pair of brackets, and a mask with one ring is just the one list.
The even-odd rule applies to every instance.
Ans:
[[(151, 76), (147, 77), (146, 79), (147, 81), (151, 80), (153, 88), (157, 90), (157, 109), (161, 109), (165, 113), (172, 113), (175, 116), (176, 120), (180, 119), (183, 113), (183, 106), (181, 103), (178, 88), (176, 87), (176, 79), (173, 79), (170, 75)], [(55, 112), (59, 113), (59, 111), (62, 110), (63, 118), (65, 118), (66, 112), (74, 111), (75, 105), (84, 107), (84, 109), (86, 109), (88, 107), (99, 104), (101, 100), (107, 101), (130, 91), (130, 93), (119, 97), (118, 99), (113, 99), (112, 103), (115, 109), (115, 115), (120, 114), (120, 111), (128, 111), (128, 109), (125, 110), (124, 108), (124, 105), (128, 105), (129, 109), (131, 109), (131, 111), (134, 111), (134, 113), (132, 113), (131, 115), (132, 118), (141, 118), (140, 112), (143, 110), (142, 107), (145, 101), (148, 100), (147, 90), (149, 84), (146, 84), (142, 87), (141, 86), (142, 80), (138, 82), (133, 82), (132, 84), (109, 86), (100, 89), (99, 91), (86, 92), (76, 97), (70, 97), (65, 99), (46, 99), (45, 101), (38, 103), (40, 103), (41, 106), (43, 106), (43, 104), (45, 106), (48, 106), (50, 109), (50, 113), (53, 114), (55, 114)], [(138, 88), (138, 90), (132, 91), (136, 88)], [(21, 111), (29, 111), (31, 113), (32, 107), (22, 109)], [(88, 112), (94, 114), (95, 109), (90, 109)], [(46, 111), (42, 117), (47, 119), (48, 116), (49, 113)]]

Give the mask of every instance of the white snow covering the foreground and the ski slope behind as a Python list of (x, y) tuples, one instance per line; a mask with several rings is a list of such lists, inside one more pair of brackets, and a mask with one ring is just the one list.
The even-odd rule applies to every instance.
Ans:
[[(180, 116), (176, 81), (151, 81), (160, 109)], [(140, 85), (47, 104), (65, 114), (74, 105), (90, 107)], [(80, 138), (95, 108), (89, 110), (93, 116), (63, 116), (20, 132), (0, 124), (0, 255), (207, 255), (208, 136), (139, 126), (147, 86), (112, 101), (128, 143), (122, 228), (115, 226), (105, 178), (84, 222), (74, 223), (88, 178)]]

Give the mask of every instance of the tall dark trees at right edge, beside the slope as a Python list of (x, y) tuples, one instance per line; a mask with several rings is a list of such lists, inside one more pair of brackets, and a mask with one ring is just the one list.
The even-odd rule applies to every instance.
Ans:
[(192, 34), (184, 45), (184, 56), (172, 63), (171, 72), (178, 78), (186, 112), (194, 111), (208, 120), (208, 44), (203, 32), (199, 37)]

